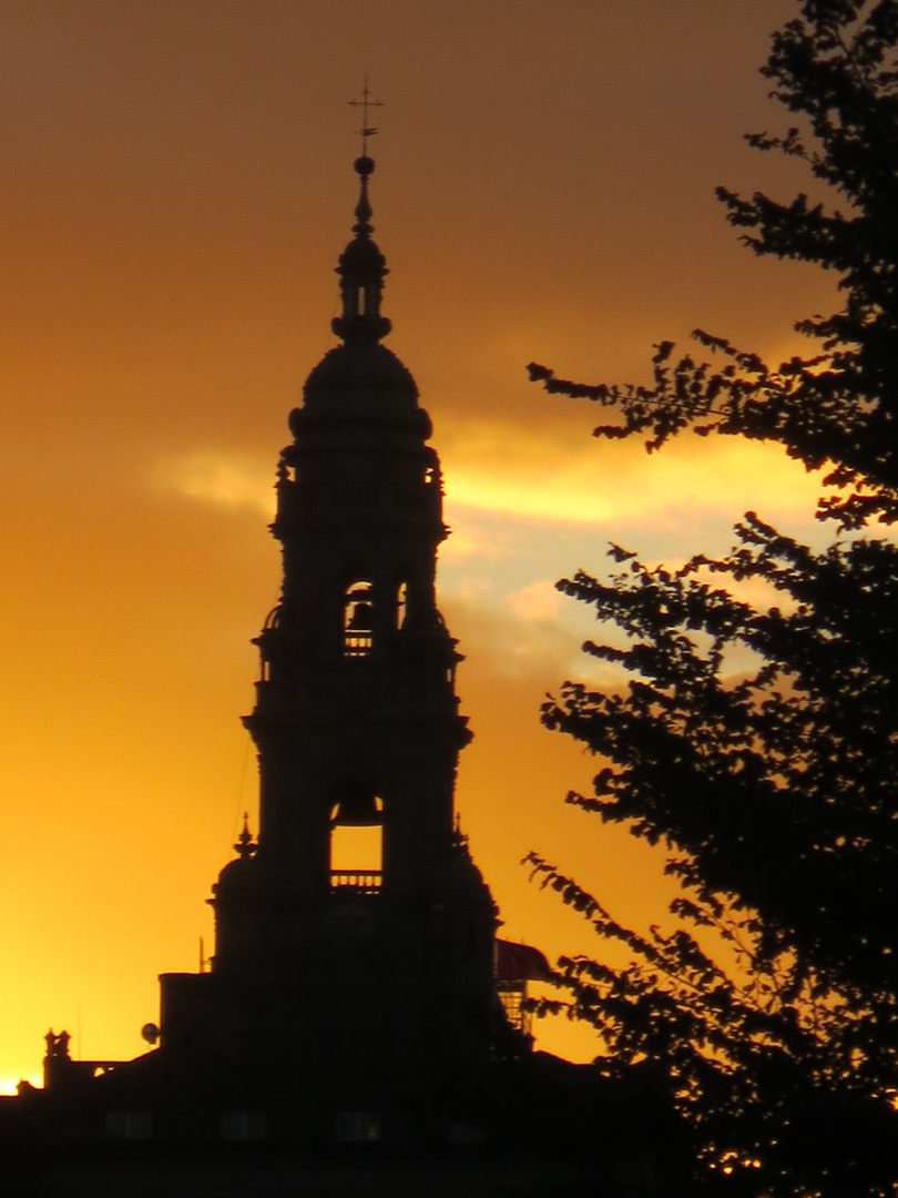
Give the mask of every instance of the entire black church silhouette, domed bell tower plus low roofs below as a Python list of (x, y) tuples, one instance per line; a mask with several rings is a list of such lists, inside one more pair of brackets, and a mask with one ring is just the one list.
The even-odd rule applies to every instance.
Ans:
[[(157, 1046), (72, 1060), (50, 1030), (44, 1088), (0, 1097), (4, 1193), (487, 1198), (569, 1185), (596, 1160), (607, 1173), (609, 1152), (624, 1188), (633, 1161), (678, 1143), (638, 1087), (533, 1053), (524, 1034), (526, 980), (548, 967), (496, 939), (454, 810), (471, 732), (436, 603), (439, 460), (412, 375), (381, 344), (374, 162), (354, 168), (341, 344), (309, 375), (278, 465), (283, 588), (244, 718), (257, 839), (245, 822), (212, 888), (211, 968), (160, 976), (159, 1027), (144, 1028)], [(235, 1156), (233, 1140), (256, 1143)]]

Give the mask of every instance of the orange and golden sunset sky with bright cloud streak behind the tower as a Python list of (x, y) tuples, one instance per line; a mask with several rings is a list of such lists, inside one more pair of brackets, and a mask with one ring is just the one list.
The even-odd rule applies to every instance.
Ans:
[[(748, 149), (793, 0), (0, 0), (0, 1088), (42, 1036), (133, 1057), (157, 975), (212, 951), (205, 904), (255, 822), (250, 639), (286, 416), (334, 344), (368, 73), (387, 344), (430, 412), (453, 534), (457, 807), (503, 934), (600, 949), (528, 882), (535, 848), (615, 914), (663, 918), (663, 858), (564, 805), (596, 763), (539, 704), (594, 634), (554, 581), (721, 551), (747, 509), (813, 536), (772, 449), (590, 436), (530, 359), (638, 381), (694, 327), (778, 358), (835, 280), (756, 259), (718, 183), (787, 198)], [(601, 678), (599, 678), (601, 680)], [(542, 1047), (583, 1059), (564, 1021)]]

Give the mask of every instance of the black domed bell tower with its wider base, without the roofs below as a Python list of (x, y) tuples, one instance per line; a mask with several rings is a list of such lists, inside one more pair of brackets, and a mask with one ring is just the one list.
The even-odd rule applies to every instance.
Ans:
[(166, 1054), (286, 1070), (335, 1109), (346, 1088), (376, 1105), (477, 1071), (497, 1034), (496, 908), (454, 813), (471, 732), (436, 603), (439, 459), (412, 375), (381, 344), (374, 165), (354, 163), (340, 344), (309, 375), (278, 466), (283, 591), (244, 718), (257, 841), (244, 830), (213, 887), (211, 972), (162, 978)]

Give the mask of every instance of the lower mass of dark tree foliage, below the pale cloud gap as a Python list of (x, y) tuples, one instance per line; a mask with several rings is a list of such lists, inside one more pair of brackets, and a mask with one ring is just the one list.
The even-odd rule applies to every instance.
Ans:
[[(611, 582), (562, 583), (626, 631), (585, 649), (631, 676), (624, 694), (566, 683), (544, 708), (609, 762), (569, 801), (673, 847), (679, 927), (633, 933), (530, 860), (631, 951), (624, 970), (576, 958), (562, 978), (618, 1064), (667, 1063), (700, 1156), (733, 1154), (759, 1192), (856, 1188), (891, 1143), (898, 1076), (898, 555), (813, 555), (757, 516), (740, 534), (720, 562), (672, 574), (615, 549)], [(784, 601), (756, 610), (716, 575)]]

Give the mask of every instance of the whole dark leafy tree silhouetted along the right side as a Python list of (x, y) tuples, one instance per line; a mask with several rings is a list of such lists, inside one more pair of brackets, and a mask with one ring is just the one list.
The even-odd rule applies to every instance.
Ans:
[[(826, 467), (839, 490), (818, 515), (843, 539), (814, 552), (748, 513), (722, 559), (674, 573), (613, 546), (609, 581), (559, 582), (626, 641), (584, 646), (619, 667), (619, 691), (569, 682), (544, 706), (548, 727), (607, 762), (594, 794), (569, 801), (668, 846), (676, 926), (636, 934), (530, 861), (630, 949), (629, 968), (569, 958), (559, 979), (605, 1069), (663, 1065), (699, 1176), (757, 1194), (896, 1193), (898, 0), (803, 0), (763, 73), (802, 123), (748, 141), (803, 159), (847, 212), (718, 198), (756, 253), (838, 272), (843, 308), (796, 325), (817, 352), (771, 367), (697, 332), (723, 364), (674, 362), (666, 341), (651, 387), (529, 371), (611, 410), (597, 436), (657, 449), (693, 429)], [(777, 603), (740, 599), (746, 580)]]

